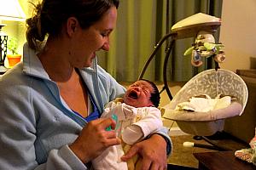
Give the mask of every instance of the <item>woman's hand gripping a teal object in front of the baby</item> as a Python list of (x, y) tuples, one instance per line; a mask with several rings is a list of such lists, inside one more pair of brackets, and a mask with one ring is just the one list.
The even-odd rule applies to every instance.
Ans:
[(116, 124), (112, 118), (100, 118), (89, 122), (73, 144), (69, 145), (70, 149), (86, 163), (101, 155), (109, 146), (120, 144), (121, 141), (113, 130), (106, 131), (108, 126), (115, 128)]

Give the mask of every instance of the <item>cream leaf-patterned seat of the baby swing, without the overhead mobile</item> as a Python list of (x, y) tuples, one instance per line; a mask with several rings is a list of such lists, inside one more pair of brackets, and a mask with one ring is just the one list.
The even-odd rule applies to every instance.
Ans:
[[(175, 110), (178, 104), (201, 94), (207, 94), (212, 99), (218, 94), (224, 94), (236, 97), (236, 101), (225, 108), (207, 112)], [(202, 71), (191, 78), (170, 104), (163, 108), (163, 118), (177, 122), (184, 133), (210, 136), (224, 129), (225, 118), (241, 116), (247, 104), (247, 96), (247, 85), (236, 73), (224, 69)]]

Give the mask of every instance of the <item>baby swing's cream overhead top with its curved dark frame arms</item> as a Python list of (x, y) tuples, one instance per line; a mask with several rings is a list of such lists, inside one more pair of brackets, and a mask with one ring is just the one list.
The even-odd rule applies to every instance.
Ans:
[[(172, 94), (168, 88), (167, 78), (166, 78), (166, 70), (167, 70), (167, 61), (169, 59), (169, 55), (171, 54), (173, 45), (175, 40), (183, 39), (187, 37), (204, 37), (206, 42), (212, 42), (212, 34), (218, 30), (218, 27), (221, 25), (221, 20), (217, 17), (208, 15), (208, 14), (194, 14), (189, 16), (186, 19), (180, 20), (174, 26), (172, 26), (171, 33), (166, 34), (166, 36), (162, 37), (160, 41), (154, 47), (154, 51), (148, 57), (145, 65), (143, 66), (143, 70), (141, 71), (138, 79), (143, 78), (145, 71), (150, 63), (150, 61), (154, 58), (154, 55), (157, 53), (163, 42), (166, 42), (167, 38), (171, 37), (171, 42), (168, 44), (166, 48), (166, 57), (164, 60), (163, 66), (163, 79), (164, 79), (164, 88), (166, 89), (166, 93), (168, 97), (172, 100)], [(209, 41), (208, 41), (208, 40)], [(193, 47), (194, 48), (194, 47)]]

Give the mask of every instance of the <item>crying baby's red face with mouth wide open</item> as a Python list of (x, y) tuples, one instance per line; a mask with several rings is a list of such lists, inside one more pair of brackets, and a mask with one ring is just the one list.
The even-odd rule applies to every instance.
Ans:
[(151, 93), (154, 88), (148, 82), (143, 80), (134, 82), (127, 88), (124, 96), (124, 102), (133, 107), (149, 107), (153, 106), (150, 101)]

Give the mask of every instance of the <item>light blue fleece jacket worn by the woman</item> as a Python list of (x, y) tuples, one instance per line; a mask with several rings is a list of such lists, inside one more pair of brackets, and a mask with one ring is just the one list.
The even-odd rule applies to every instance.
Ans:
[[(87, 169), (68, 147), (87, 122), (61, 99), (36, 52), (27, 44), (23, 51), (23, 62), (0, 79), (0, 169)], [(79, 71), (100, 113), (125, 93), (96, 59)], [(169, 154), (171, 139), (166, 129), (159, 133)]]

